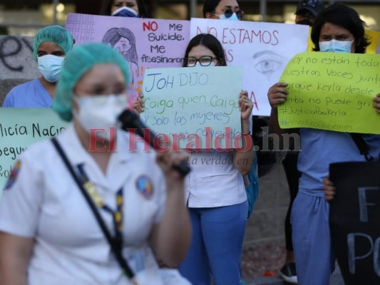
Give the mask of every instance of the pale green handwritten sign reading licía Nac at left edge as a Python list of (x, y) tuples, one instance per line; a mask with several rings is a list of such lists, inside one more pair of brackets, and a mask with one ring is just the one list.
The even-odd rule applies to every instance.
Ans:
[(0, 196), (16, 157), (29, 145), (52, 138), (68, 123), (48, 108), (0, 108)]

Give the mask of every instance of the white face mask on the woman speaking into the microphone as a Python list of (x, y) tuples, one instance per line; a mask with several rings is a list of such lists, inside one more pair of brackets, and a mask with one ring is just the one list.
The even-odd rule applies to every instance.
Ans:
[(78, 113), (74, 116), (87, 133), (91, 129), (104, 129), (97, 134), (106, 140), (110, 140), (110, 129), (118, 126), (118, 115), (127, 108), (128, 101), (125, 94), (120, 95), (95, 95), (76, 97), (74, 100), (79, 105)]

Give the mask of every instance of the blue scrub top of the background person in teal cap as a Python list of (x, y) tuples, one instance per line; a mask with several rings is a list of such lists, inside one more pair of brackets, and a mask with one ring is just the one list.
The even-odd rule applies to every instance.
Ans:
[(53, 100), (39, 79), (20, 84), (9, 91), (3, 107), (51, 108)]

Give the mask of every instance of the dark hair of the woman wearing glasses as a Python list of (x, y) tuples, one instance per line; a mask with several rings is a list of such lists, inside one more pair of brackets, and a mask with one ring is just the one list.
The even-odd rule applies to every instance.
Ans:
[[(214, 53), (218, 58), (219, 66), (227, 66), (225, 60), (225, 50), (222, 47), (222, 43), (220, 43), (220, 41), (215, 38), (215, 36), (212, 36), (210, 33), (200, 33), (199, 35), (192, 38), (188, 44), (188, 48), (186, 48), (185, 58), (189, 56), (191, 49), (195, 46), (205, 46), (206, 48), (210, 49), (210, 51), (212, 51), (212, 53)], [(187, 66), (186, 61), (183, 61), (182, 66)]]

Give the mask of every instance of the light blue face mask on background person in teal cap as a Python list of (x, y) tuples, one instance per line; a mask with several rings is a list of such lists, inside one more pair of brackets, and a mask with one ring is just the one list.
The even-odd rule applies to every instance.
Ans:
[(56, 82), (58, 81), (59, 73), (61, 73), (64, 60), (64, 56), (53, 56), (51, 54), (40, 56), (37, 58), (38, 70), (46, 81), (50, 83)]

